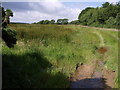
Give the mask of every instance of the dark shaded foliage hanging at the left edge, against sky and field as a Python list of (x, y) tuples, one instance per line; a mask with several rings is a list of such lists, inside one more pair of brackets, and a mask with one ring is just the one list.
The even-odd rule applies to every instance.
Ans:
[(10, 9), (2, 9), (2, 39), (5, 41), (8, 47), (13, 47), (16, 44), (16, 31), (8, 29), (7, 24), (10, 23), (10, 16), (13, 17), (13, 12)]

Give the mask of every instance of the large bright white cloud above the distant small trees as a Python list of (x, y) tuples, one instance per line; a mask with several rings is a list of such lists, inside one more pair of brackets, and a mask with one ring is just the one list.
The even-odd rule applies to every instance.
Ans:
[(76, 20), (81, 12), (80, 9), (67, 7), (63, 3), (58, 2), (58, 0), (52, 2), (29, 2), (29, 7), (32, 9), (15, 11), (15, 16), (11, 18), (11, 21), (32, 23), (44, 19), (57, 20), (59, 18), (68, 18), (71, 21)]

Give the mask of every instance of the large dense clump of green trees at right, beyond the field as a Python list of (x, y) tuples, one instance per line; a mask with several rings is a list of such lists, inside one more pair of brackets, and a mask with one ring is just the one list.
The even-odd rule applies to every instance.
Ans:
[(106, 2), (102, 7), (84, 9), (78, 16), (80, 24), (88, 26), (100, 26), (117, 28), (119, 20), (118, 13), (120, 12), (119, 2), (110, 4)]

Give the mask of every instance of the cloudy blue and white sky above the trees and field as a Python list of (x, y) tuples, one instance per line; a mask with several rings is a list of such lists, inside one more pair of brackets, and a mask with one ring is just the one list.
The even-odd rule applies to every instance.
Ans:
[(80, 12), (86, 7), (101, 7), (104, 2), (2, 2), (2, 6), (11, 9), (14, 16), (11, 22), (34, 23), (41, 20), (67, 18), (77, 20)]

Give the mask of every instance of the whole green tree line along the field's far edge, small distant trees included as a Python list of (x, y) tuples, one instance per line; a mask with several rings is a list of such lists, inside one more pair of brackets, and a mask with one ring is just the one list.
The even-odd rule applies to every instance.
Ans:
[(41, 20), (34, 24), (75, 24), (96, 27), (119, 28), (120, 26), (120, 2), (112, 4), (105, 2), (102, 7), (87, 7), (78, 16), (78, 20), (68, 22), (69, 19)]

